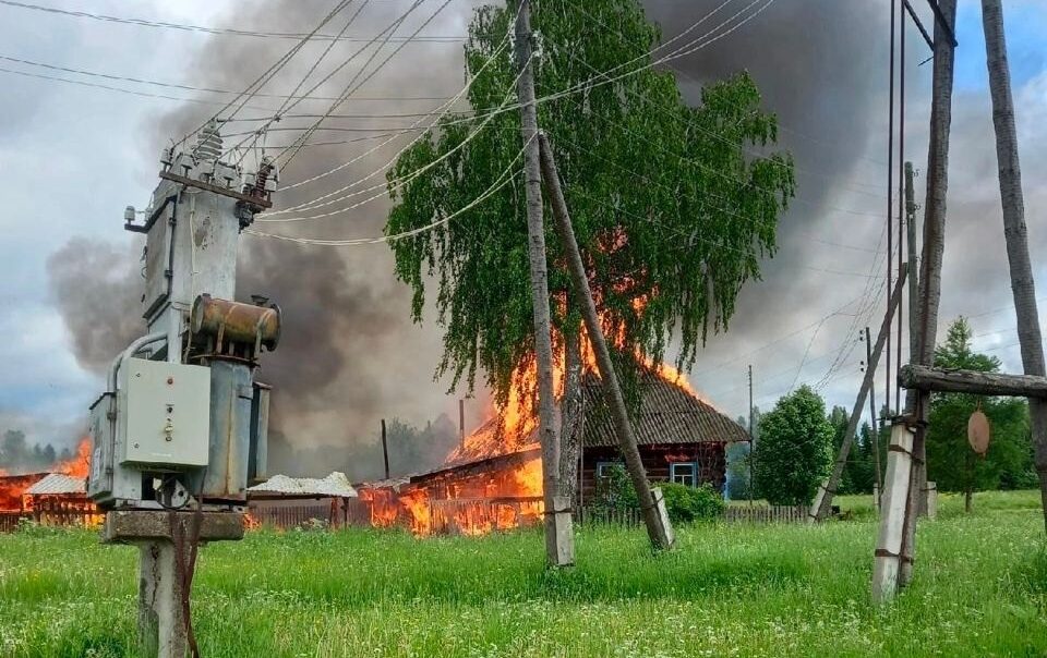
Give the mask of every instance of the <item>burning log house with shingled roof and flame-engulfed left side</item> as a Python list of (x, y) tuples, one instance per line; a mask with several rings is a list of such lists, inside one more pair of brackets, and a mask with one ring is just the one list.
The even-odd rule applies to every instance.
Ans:
[[(631, 419), (648, 477), (722, 488), (726, 446), (747, 441), (746, 431), (667, 366), (645, 368), (639, 386), (642, 402)], [(593, 501), (601, 478), (622, 463), (599, 377), (587, 371), (581, 388), (577, 509)], [(370, 505), (371, 523), (408, 524), (420, 535), (483, 534), (539, 523), (541, 451), (537, 421), (510, 394), (506, 409), (466, 437), (440, 470), (358, 487)]]

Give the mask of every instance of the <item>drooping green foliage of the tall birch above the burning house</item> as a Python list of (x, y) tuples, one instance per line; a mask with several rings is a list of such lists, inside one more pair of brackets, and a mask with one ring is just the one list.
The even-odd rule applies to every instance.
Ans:
[[(394, 207), (386, 233), (429, 227), (479, 197), (502, 172), (520, 170), (516, 72), (505, 37), (515, 3), (477, 10), (466, 44), (474, 115), (455, 114), (405, 151), (388, 174)], [(689, 367), (711, 329), (725, 329), (741, 285), (775, 249), (778, 217), (794, 194), (792, 159), (771, 153), (778, 124), (760, 109), (745, 73), (709, 84), (697, 108), (683, 102), (673, 74), (645, 69), (658, 29), (637, 0), (546, 0), (532, 4), (542, 35), (537, 62), (539, 122), (549, 134), (590, 285), (604, 320), (621, 330), (623, 354), (661, 361), (670, 334)], [(493, 58), (490, 65), (489, 59)], [(591, 68), (590, 68), (591, 66)], [(622, 66), (614, 84), (595, 71)], [(595, 71), (594, 71), (594, 70)], [(442, 156), (449, 156), (436, 163)], [(430, 167), (431, 166), (431, 167)], [(425, 173), (397, 181), (423, 167)], [(549, 217), (546, 210), (546, 217)], [(556, 340), (580, 319), (546, 222)], [(413, 289), (422, 320), (428, 297), (444, 328), (437, 375), (474, 386), (478, 370), (504, 403), (514, 373), (533, 354), (522, 175), (456, 220), (392, 248), (396, 276)], [(426, 284), (435, 294), (426, 295)], [(635, 302), (643, 298), (646, 304)], [(631, 358), (619, 358), (627, 388)]]

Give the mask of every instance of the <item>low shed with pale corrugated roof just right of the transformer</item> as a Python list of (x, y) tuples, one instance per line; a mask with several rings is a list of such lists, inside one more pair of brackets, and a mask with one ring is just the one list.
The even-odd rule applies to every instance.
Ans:
[(354, 521), (357, 490), (345, 473), (327, 477), (274, 475), (248, 488), (248, 510), (256, 524), (293, 527), (320, 520), (332, 526)]

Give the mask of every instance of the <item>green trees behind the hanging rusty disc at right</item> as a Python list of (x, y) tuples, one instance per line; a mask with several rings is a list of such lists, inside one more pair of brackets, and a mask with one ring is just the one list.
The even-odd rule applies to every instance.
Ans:
[[(973, 331), (963, 317), (950, 327), (935, 350), (935, 365), (995, 373), (1000, 361), (971, 346)], [(989, 419), (991, 440), (985, 458), (967, 442), (967, 419), (980, 405)], [(936, 393), (927, 430), (927, 477), (942, 491), (1026, 488), (1037, 485), (1033, 467), (1028, 405), (1014, 398)]]

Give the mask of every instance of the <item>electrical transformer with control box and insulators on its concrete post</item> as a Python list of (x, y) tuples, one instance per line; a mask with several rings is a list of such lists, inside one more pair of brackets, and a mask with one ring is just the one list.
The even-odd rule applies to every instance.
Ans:
[[(147, 333), (113, 361), (91, 409), (88, 495), (103, 540), (140, 548), (140, 654), (197, 656), (190, 590), (200, 541), (240, 539), (246, 487), (264, 477), (269, 387), (253, 380), (280, 313), (236, 295), (240, 231), (268, 208), (276, 168), (221, 159), (217, 123), (165, 149), (144, 224)], [(136, 357), (148, 349), (146, 358)]]

